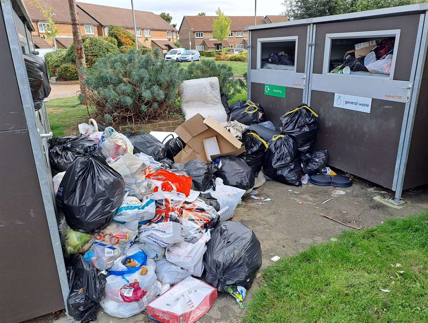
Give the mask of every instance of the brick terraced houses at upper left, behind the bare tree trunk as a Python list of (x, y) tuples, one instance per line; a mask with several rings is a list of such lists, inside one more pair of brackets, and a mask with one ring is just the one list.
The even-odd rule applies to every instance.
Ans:
[[(32, 0), (24, 0), (24, 4), (33, 21), (36, 31), (32, 32), (33, 41), (42, 47), (53, 47), (53, 39), (45, 37), (45, 17)], [(58, 48), (68, 48), (73, 43), (70, 12), (67, 0), (49, 0), (54, 16), (52, 17), (59, 35), (55, 38)], [(77, 13), (80, 22), (80, 32), (88, 36), (107, 36), (108, 26), (113, 24), (125, 28), (134, 35), (132, 10), (111, 6), (101, 6), (90, 3), (77, 2)], [(178, 30), (153, 12), (134, 10), (137, 26), (137, 40), (139, 45), (149, 48), (158, 47), (163, 53), (171, 48), (178, 39)]]

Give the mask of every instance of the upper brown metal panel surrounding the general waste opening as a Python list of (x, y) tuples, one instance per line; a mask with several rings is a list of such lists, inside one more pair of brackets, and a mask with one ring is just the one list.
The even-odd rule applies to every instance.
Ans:
[[(327, 33), (350, 33), (358, 31), (400, 29), (397, 60), (395, 63), (394, 80), (409, 81), (410, 70), (415, 51), (416, 34), (420, 15), (403, 15), (396, 17), (372, 18), (356, 21), (339, 21), (328, 24), (316, 24), (314, 69), (322, 74), (325, 35)], [(352, 48), (350, 48), (352, 49)]]

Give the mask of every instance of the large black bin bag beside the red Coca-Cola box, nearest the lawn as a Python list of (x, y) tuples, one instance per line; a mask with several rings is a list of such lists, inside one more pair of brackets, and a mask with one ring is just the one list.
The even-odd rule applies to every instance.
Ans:
[(253, 230), (235, 221), (220, 222), (211, 231), (204, 254), (205, 280), (220, 292), (228, 286), (253, 284), (262, 266), (262, 248)]

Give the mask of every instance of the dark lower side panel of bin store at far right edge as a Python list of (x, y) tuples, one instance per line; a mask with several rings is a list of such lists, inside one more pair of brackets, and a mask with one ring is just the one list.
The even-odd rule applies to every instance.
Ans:
[[(426, 65), (425, 65), (426, 66)], [(403, 189), (428, 183), (428, 79), (422, 80)]]

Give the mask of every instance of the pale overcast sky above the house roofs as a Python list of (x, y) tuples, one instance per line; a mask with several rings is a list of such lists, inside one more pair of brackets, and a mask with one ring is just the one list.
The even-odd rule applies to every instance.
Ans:
[[(131, 9), (131, 0), (77, 0), (78, 2), (96, 3), (104, 6), (113, 6)], [(279, 15), (284, 11), (283, 0), (257, 1), (257, 15)], [(220, 7), (229, 16), (254, 15), (254, 0), (134, 0), (134, 9), (151, 11), (155, 14), (169, 12), (172, 23), (180, 27), (184, 15), (197, 15), (205, 12), (207, 16), (214, 16)]]

